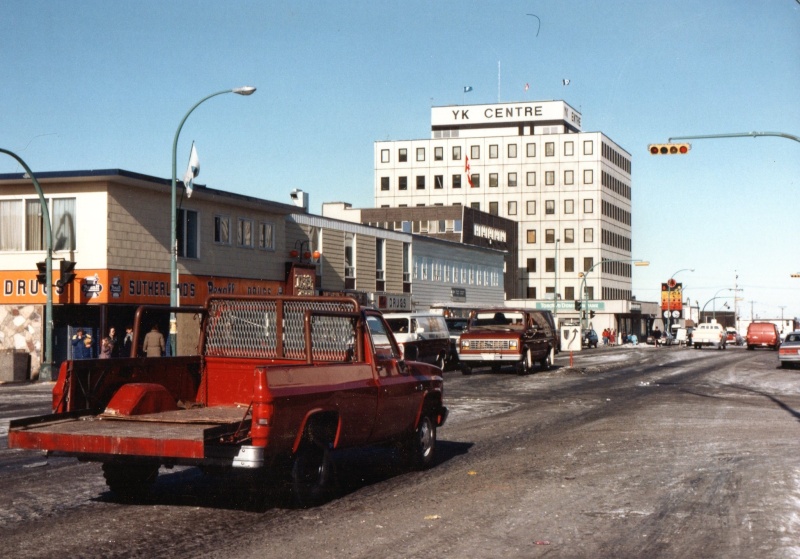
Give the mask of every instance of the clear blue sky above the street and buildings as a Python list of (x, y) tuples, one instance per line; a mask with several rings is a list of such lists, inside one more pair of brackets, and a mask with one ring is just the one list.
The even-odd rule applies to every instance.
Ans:
[(647, 153), (670, 136), (800, 136), (796, 0), (4, 0), (3, 12), (0, 147), (34, 172), (169, 177), (186, 111), (253, 85), (192, 113), (179, 172), (195, 140), (200, 184), (370, 207), (373, 142), (428, 137), (432, 104), (563, 99), (633, 154), (633, 253), (650, 261), (634, 269), (639, 299), (694, 268), (676, 279), (701, 306), (738, 281), (743, 318), (800, 316), (800, 143)]

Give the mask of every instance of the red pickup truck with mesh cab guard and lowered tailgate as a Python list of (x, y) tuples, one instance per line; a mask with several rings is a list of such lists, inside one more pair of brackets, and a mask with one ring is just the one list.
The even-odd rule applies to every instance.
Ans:
[(263, 468), (266, 480), (288, 479), (301, 506), (330, 497), (336, 449), (395, 443), (409, 465), (433, 462), (447, 417), (441, 371), (403, 361), (379, 312), (291, 296), (168, 310), (197, 318), (196, 355), (67, 361), (54, 413), (12, 421), (9, 447), (101, 462), (123, 498), (161, 466)]

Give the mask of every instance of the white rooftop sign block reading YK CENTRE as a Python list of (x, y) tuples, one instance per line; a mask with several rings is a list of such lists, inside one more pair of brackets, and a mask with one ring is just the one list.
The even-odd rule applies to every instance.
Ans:
[(564, 101), (499, 103), (493, 105), (459, 105), (431, 108), (431, 126), (463, 126), (466, 124), (498, 124), (518, 122), (563, 121), (581, 129), (581, 114)]

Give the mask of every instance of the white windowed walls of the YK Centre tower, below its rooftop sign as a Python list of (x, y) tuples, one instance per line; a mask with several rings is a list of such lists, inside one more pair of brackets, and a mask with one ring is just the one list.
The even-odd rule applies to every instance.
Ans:
[[(558, 291), (563, 298), (566, 288), (572, 287), (577, 297), (578, 274), (584, 270), (584, 259), (591, 259), (592, 263), (601, 259), (631, 259), (628, 248), (602, 242), (603, 229), (631, 238), (630, 223), (603, 215), (603, 201), (613, 203), (628, 215), (631, 213), (629, 197), (602, 185), (604, 173), (627, 185), (628, 192), (631, 184), (630, 173), (603, 157), (603, 144), (613, 147), (628, 161), (630, 156), (600, 132), (502, 135), (508, 130), (481, 129), (483, 136), (479, 137), (464, 137), (462, 133), (466, 131), (459, 130), (456, 138), (376, 142), (375, 206), (477, 203), (482, 211), (489, 212), (496, 203), (500, 216), (520, 223), (520, 269), (509, 273), (520, 274), (523, 285), (534, 288), (536, 298), (544, 298), (547, 288), (555, 286), (555, 273), (546, 272), (545, 267), (546, 259), (555, 257), (555, 242), (547, 242), (546, 236), (548, 230), (553, 230), (554, 239), (560, 240)], [(512, 130), (517, 133), (517, 128)], [(474, 130), (469, 132), (474, 133)], [(535, 154), (531, 157), (528, 156), (529, 144)], [(552, 155), (549, 155), (548, 144), (552, 144)], [(514, 146), (511, 152), (509, 145)], [(437, 148), (441, 148), (441, 159), (437, 157)], [(460, 150), (459, 159), (454, 159), (454, 148)], [(405, 162), (398, 161), (401, 149), (406, 150)], [(475, 149), (477, 151), (473, 151)], [(492, 157), (495, 151), (497, 157)], [(480, 175), (479, 188), (469, 186), (465, 169), (467, 156), (470, 157), (470, 173)], [(497, 186), (490, 186), (492, 174), (497, 176)], [(513, 174), (516, 186), (513, 186)], [(460, 177), (460, 188), (454, 187), (454, 175)], [(419, 176), (424, 177), (424, 188), (418, 188)], [(437, 188), (437, 176), (443, 178), (442, 188)], [(406, 190), (399, 190), (400, 177), (407, 177)], [(389, 189), (384, 190), (382, 180), (387, 178)], [(535, 185), (528, 184), (534, 178)], [(552, 184), (548, 184), (550, 180)], [(554, 205), (553, 214), (546, 213), (548, 203)], [(572, 213), (567, 213), (565, 204), (571, 204)], [(573, 242), (568, 242), (570, 230)], [(587, 230), (591, 230), (590, 241), (585, 240)], [(535, 235), (533, 243), (528, 242), (529, 231)], [(572, 272), (564, 270), (567, 258), (573, 259)], [(535, 273), (527, 272), (528, 259), (536, 259)], [(603, 287), (630, 292), (631, 277), (603, 273), (598, 267), (589, 276), (587, 285), (593, 288), (594, 297), (600, 298)]]

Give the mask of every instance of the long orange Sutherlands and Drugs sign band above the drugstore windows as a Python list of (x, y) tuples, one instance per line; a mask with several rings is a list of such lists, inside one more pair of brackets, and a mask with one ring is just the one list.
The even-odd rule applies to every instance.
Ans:
[[(57, 304), (169, 305), (169, 274), (121, 270), (77, 270), (75, 281), (53, 287)], [(201, 305), (209, 295), (281, 295), (284, 282), (218, 276), (181, 276), (180, 304)], [(0, 273), (0, 304), (44, 304), (47, 288), (34, 270)]]

